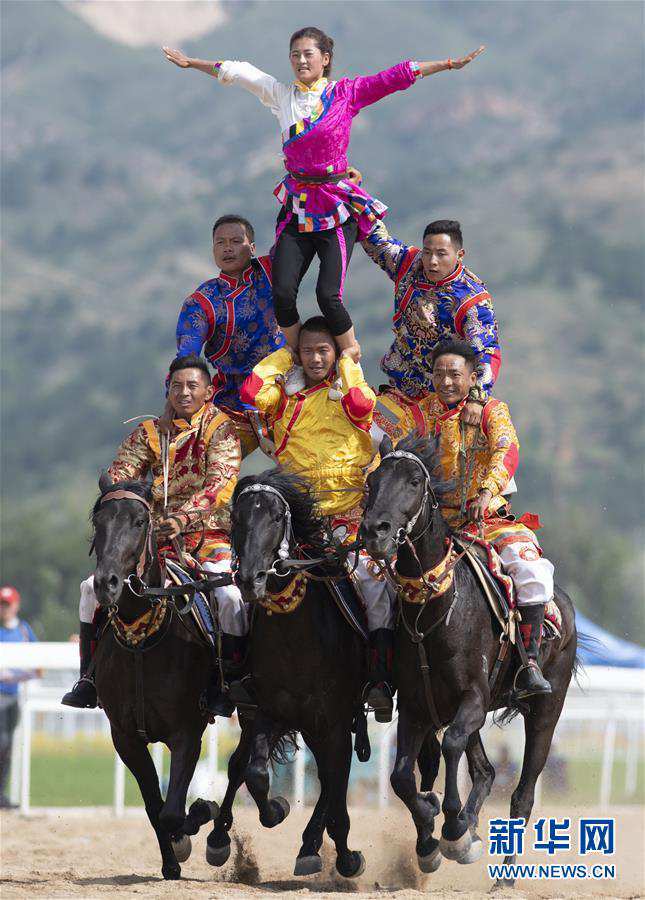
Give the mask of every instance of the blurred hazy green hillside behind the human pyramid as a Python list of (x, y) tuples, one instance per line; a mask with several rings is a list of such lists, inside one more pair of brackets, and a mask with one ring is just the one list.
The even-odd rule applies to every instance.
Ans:
[[(516, 506), (541, 513), (575, 602), (643, 640), (642, 5), (322, 9), (228, 4), (183, 49), (286, 80), (309, 11), (336, 40), (336, 77), (487, 45), (466, 70), (363, 111), (351, 160), (397, 237), (461, 220), (500, 321)], [(0, 14), (3, 578), (41, 636), (64, 638), (96, 475), (121, 422), (160, 408), (179, 305), (213, 274), (213, 219), (241, 211), (270, 246), (280, 147), (255, 98), (156, 48), (115, 43), (58, 2), (4, 0)], [(347, 299), (378, 383), (391, 286), (360, 248)]]

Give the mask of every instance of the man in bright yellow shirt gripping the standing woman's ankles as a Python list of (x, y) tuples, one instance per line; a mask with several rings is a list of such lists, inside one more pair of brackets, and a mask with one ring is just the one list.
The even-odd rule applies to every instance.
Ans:
[[(329, 517), (332, 530), (343, 528), (353, 536), (362, 517), (366, 469), (375, 453), (370, 426), (376, 397), (351, 349), (337, 359), (334, 336), (322, 316), (302, 325), (298, 353), (305, 377), (302, 390), (290, 393), (286, 387), (294, 357), (283, 348), (255, 366), (241, 397), (267, 416), (277, 461), (313, 486), (319, 510)], [(379, 721), (389, 721), (392, 602), (385, 581), (374, 574), (364, 554), (359, 555), (355, 576), (370, 632), (367, 699)]]

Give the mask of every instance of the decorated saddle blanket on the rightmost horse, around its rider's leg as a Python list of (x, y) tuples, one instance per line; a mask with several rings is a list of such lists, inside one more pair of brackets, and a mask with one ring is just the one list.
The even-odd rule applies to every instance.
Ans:
[[(485, 579), (490, 590), (484, 593), (491, 604), (493, 613), (504, 628), (509, 619), (510, 610), (517, 607), (513, 581), (504, 572), (499, 554), (492, 544), (481, 538), (468, 536), (466, 540), (455, 537), (455, 542), (462, 550), (467, 550), (466, 559), (470, 563), (480, 583)], [(483, 586), (483, 584), (482, 584)], [(545, 639), (561, 637), (562, 614), (554, 599), (549, 600), (544, 610), (543, 637)]]

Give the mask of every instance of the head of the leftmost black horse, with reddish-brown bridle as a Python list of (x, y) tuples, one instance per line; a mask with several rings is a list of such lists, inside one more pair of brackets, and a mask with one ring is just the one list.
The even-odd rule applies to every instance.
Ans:
[(99, 479), (101, 494), (91, 521), (96, 552), (94, 591), (101, 606), (118, 604), (129, 576), (142, 577), (156, 560), (150, 485), (141, 481), (115, 484), (107, 472)]

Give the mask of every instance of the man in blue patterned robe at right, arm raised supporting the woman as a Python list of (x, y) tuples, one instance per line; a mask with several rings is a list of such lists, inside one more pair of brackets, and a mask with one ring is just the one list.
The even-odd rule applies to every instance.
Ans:
[(464, 340), (477, 355), (477, 384), (463, 418), (481, 421), (501, 365), (497, 320), (486, 285), (463, 265), (459, 222), (431, 222), (422, 247), (390, 237), (379, 221), (363, 241), (368, 256), (394, 282), (394, 341), (381, 360), (387, 391), (410, 405), (434, 390), (432, 352), (438, 344)]

